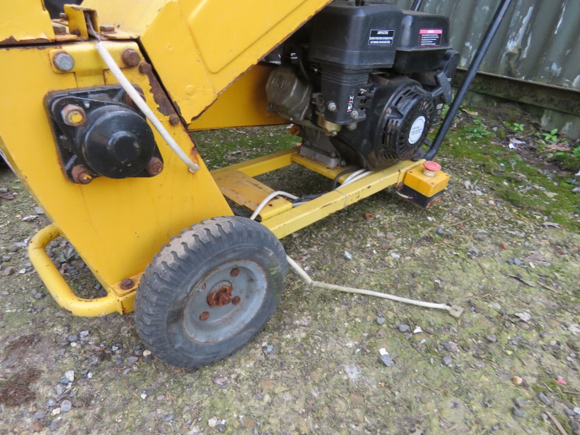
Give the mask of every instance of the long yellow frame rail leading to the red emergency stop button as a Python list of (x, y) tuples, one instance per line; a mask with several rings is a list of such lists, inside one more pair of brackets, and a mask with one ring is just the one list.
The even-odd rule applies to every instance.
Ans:
[(309, 226), (311, 223), (325, 218), (350, 204), (354, 204), (386, 187), (401, 182), (406, 171), (420, 164), (422, 164), (422, 161), (400, 162), (390, 168), (383, 169), (383, 171), (364, 177), (357, 182), (326, 193), (292, 210), (263, 220), (262, 223), (276, 234), (276, 237), (286, 237), (288, 234)]

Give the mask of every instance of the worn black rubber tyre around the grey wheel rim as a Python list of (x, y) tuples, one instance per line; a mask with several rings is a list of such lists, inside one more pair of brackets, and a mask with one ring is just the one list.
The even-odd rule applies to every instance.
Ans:
[[(267, 272), (266, 296), (256, 316), (237, 334), (213, 343), (193, 340), (183, 327), (171, 330), (175, 316), (182, 316), (190, 289), (208, 271), (240, 255)], [(172, 238), (147, 266), (135, 298), (137, 332), (155, 356), (177, 367), (222, 360), (266, 326), (280, 302), (287, 267), (278, 238), (254, 220), (223, 216), (194, 224)]]

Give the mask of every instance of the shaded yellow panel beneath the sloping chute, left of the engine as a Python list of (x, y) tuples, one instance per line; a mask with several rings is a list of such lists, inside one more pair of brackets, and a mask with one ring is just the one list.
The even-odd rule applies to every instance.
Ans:
[(190, 130), (288, 124), (267, 110), (266, 82), (272, 67), (258, 64), (224, 90), (215, 103), (189, 125)]

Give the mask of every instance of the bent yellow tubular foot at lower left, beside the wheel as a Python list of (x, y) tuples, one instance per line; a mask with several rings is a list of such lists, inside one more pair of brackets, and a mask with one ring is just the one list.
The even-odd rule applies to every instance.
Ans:
[(107, 288), (108, 294), (103, 298), (84, 299), (75, 295), (45, 251), (46, 246), (60, 235), (59, 229), (50, 224), (38, 231), (28, 244), (30, 262), (56, 303), (69, 313), (84, 317), (104, 316), (115, 312), (125, 314), (133, 311), (136, 282), (139, 277), (135, 277), (132, 280), (132, 288), (125, 291), (118, 285), (115, 286), (117, 288)]

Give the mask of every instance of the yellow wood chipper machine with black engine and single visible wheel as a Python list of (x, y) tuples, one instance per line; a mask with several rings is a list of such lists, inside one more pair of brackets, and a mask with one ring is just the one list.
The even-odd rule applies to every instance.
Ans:
[[(51, 20), (41, 0), (2, 2), (0, 150), (52, 221), (30, 260), (75, 316), (135, 310), (162, 360), (220, 360), (269, 320), (288, 264), (311, 281), (278, 239), (389, 186), (441, 199), (426, 136), (457, 63), (447, 17), (389, 3), (86, 0)], [(191, 137), (273, 124), (302, 145), (215, 171)], [(289, 165), (338, 187), (254, 178)], [(75, 295), (45, 252), (57, 237), (107, 296)]]

